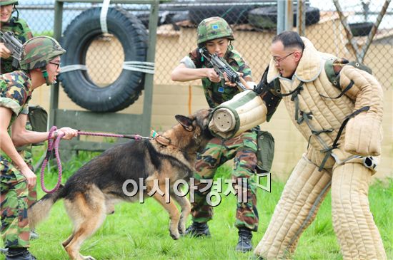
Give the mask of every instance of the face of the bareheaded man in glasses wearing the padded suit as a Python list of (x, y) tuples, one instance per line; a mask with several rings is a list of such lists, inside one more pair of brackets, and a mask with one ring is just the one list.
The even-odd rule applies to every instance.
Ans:
[(270, 51), (275, 61), (276, 68), (284, 78), (292, 78), (299, 63), (301, 53), (297, 48), (284, 49), (281, 41), (272, 43)]

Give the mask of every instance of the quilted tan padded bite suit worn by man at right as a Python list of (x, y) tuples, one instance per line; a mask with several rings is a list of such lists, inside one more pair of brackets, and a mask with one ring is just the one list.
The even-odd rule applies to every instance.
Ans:
[[(303, 90), (297, 95), (301, 113), (297, 113), (291, 95), (284, 97), (283, 101), (292, 122), (309, 140), (309, 149), (289, 177), (267, 232), (254, 253), (263, 259), (291, 257), (300, 234), (317, 214), (332, 181), (329, 173), (334, 169), (332, 214), (344, 259), (386, 259), (367, 199), (369, 178), (374, 170), (372, 172), (362, 165), (363, 158), (353, 156), (379, 155), (381, 152), (382, 88), (372, 75), (352, 66), (344, 66), (340, 73), (342, 90), (350, 80), (354, 81), (354, 86), (341, 98), (329, 99), (337, 97), (342, 91), (335, 88), (325, 71), (321, 70), (323, 66), (320, 64), (324, 64), (329, 56), (319, 53), (308, 40), (304, 40), (304, 44), (303, 56), (306, 59), (299, 63), (294, 78), (279, 80), (282, 93), (292, 92), (300, 80), (304, 81)], [(271, 65), (268, 81), (279, 76), (274, 63)], [(324, 159), (324, 152), (320, 151), (332, 147), (345, 118), (364, 106), (369, 106), (369, 111), (349, 120), (339, 138), (338, 148), (333, 150), (337, 161), (330, 157), (324, 170), (318, 172), (318, 166)], [(308, 125), (307, 119), (301, 118), (302, 115), (309, 115)], [(296, 116), (303, 120), (297, 122)], [(332, 132), (312, 135), (312, 130)], [(338, 165), (342, 162), (346, 163)]]

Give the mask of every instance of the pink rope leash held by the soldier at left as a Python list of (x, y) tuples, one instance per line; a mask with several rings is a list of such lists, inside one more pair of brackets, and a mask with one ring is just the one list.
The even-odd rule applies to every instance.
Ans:
[[(61, 160), (60, 160), (60, 155), (59, 155), (59, 144), (60, 140), (62, 137), (64, 137), (64, 133), (60, 133), (58, 136), (54, 136), (54, 140), (52, 140), (52, 136), (54, 135), (54, 131), (56, 131), (57, 128), (56, 126), (52, 126), (51, 130), (49, 130), (49, 135), (48, 135), (48, 150), (46, 151), (46, 157), (44, 162), (42, 162), (41, 166), (41, 188), (44, 192), (46, 193), (53, 193), (56, 192), (57, 189), (59, 189), (60, 184), (61, 184), (61, 177), (62, 177), (62, 169), (61, 169)], [(93, 135), (93, 136), (104, 136), (104, 137), (118, 137), (118, 138), (129, 138), (133, 140), (142, 140), (142, 139), (149, 139), (150, 137), (143, 137), (141, 135), (117, 135), (117, 134), (109, 134), (109, 133), (103, 133), (103, 132), (82, 132), (78, 131), (78, 135)], [(48, 164), (49, 158), (51, 157), (51, 152), (54, 150), (54, 155), (56, 157), (56, 162), (57, 162), (57, 167), (59, 169), (59, 177), (57, 179), (56, 186), (48, 190), (45, 187), (45, 182), (44, 182), (44, 171), (45, 167)]]

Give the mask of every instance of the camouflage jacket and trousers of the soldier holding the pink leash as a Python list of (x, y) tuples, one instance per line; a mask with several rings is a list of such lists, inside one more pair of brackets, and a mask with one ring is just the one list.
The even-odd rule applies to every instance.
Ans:
[[(14, 123), (19, 114), (29, 109), (31, 92), (31, 80), (23, 71), (0, 76), (0, 106), (13, 112), (9, 125)], [(0, 173), (1, 238), (4, 246), (29, 247), (26, 179), (4, 155), (0, 155)]]

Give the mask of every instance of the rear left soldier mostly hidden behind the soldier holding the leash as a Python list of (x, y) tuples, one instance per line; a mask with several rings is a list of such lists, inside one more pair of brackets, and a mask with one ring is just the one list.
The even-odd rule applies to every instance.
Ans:
[[(17, 0), (0, 0), (0, 8), (1, 8), (0, 31), (4, 33), (6, 31), (11, 31), (14, 33), (14, 36), (21, 43), (25, 43), (30, 38), (33, 38), (33, 33), (31, 33), (31, 30), (27, 25), (26, 21), (24, 21), (24, 19), (19, 18), (19, 11), (18, 9), (16, 9), (17, 4), (18, 4)], [(14, 11), (16, 12), (16, 16), (12, 16)], [(6, 48), (6, 46), (4, 46), (4, 43), (0, 43), (0, 57), (1, 57), (0, 74), (10, 73), (18, 69), (12, 67), (11, 52), (9, 51), (8, 48)], [(28, 112), (29, 110), (26, 110), (26, 113)], [(30, 131), (33, 130), (33, 128), (31, 128), (29, 118), (27, 118), (26, 120), (26, 130), (30, 130)], [(32, 145), (24, 145), (23, 147), (17, 147), (16, 150), (18, 150), (21, 157), (24, 158), (24, 161), (30, 167), (30, 169), (33, 170), (33, 158), (31, 154), (31, 147)], [(36, 186), (33, 187), (32, 189), (29, 189), (27, 200), (28, 200), (27, 202), (28, 206), (36, 202), (37, 200)], [(31, 230), (30, 238), (36, 239), (38, 238), (38, 234), (36, 234), (34, 230)]]

